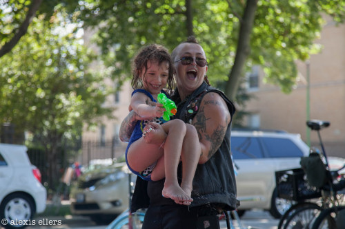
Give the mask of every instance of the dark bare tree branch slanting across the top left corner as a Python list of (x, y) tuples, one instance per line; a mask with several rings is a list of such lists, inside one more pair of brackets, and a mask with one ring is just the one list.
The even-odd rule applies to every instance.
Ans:
[(3, 47), (0, 49), (0, 58), (10, 52), (12, 48), (17, 45), (19, 40), (22, 36), (26, 34), (28, 31), (28, 27), (32, 21), (32, 19), (35, 17), (37, 10), (39, 9), (39, 6), (41, 5), (42, 0), (32, 0), (32, 3), (30, 5), (28, 14), (26, 14), (26, 19), (23, 21), (21, 26), (18, 28), (17, 32), (14, 34), (12, 39), (5, 43)]

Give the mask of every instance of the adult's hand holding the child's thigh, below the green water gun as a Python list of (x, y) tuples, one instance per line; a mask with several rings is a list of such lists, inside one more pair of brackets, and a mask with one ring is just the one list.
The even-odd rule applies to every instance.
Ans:
[(166, 131), (156, 122), (150, 122), (144, 128), (143, 138), (148, 144), (157, 144), (161, 146), (164, 140), (166, 140), (166, 136)]

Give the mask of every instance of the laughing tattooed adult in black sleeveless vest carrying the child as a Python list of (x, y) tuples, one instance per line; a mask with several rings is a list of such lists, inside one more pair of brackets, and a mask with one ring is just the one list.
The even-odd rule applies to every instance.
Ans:
[[(159, 193), (164, 188), (164, 179), (146, 183), (137, 179), (131, 210), (135, 212), (139, 208), (148, 208), (144, 229), (204, 228), (205, 222), (208, 228), (219, 228), (219, 212), (239, 206), (230, 153), (231, 121), (235, 107), (223, 92), (210, 87), (206, 76), (206, 54), (194, 36), (175, 47), (172, 61), (177, 81), (177, 89), (171, 97), (177, 104), (175, 118), (193, 124), (201, 149), (193, 179), (193, 202), (188, 207), (161, 197)], [(132, 111), (122, 122), (121, 140), (129, 139), (138, 118), (137, 113)], [(158, 124), (152, 124), (151, 128), (146, 141), (161, 144), (166, 133)]]

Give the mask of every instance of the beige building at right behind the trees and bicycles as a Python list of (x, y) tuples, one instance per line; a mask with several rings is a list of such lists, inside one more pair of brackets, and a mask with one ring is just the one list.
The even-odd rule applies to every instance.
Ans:
[(321, 132), (328, 155), (345, 157), (345, 25), (328, 20), (315, 43), (322, 45), (322, 51), (311, 55), (306, 63), (297, 62), (299, 81), (290, 94), (262, 83), (263, 72), (257, 71), (258, 85), (248, 90), (257, 99), (246, 105), (253, 113), (246, 122), (251, 127), (300, 133), (305, 142), (310, 139), (315, 145), (317, 133), (313, 131), (308, 137), (306, 130), (309, 107), (310, 119), (331, 122)]

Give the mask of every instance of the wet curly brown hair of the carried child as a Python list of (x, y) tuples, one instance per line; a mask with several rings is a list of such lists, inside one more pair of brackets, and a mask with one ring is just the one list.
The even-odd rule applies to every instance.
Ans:
[(168, 80), (167, 80), (167, 89), (171, 90), (174, 87), (174, 65), (172, 62), (172, 58), (163, 45), (152, 44), (146, 47), (141, 48), (135, 58), (132, 61), (132, 88), (137, 89), (142, 87), (142, 83), (140, 80), (140, 72), (141, 70), (145, 70), (144, 74), (148, 69), (148, 61), (157, 61), (159, 66), (161, 63), (168, 63), (169, 65), (169, 72), (168, 72)]

